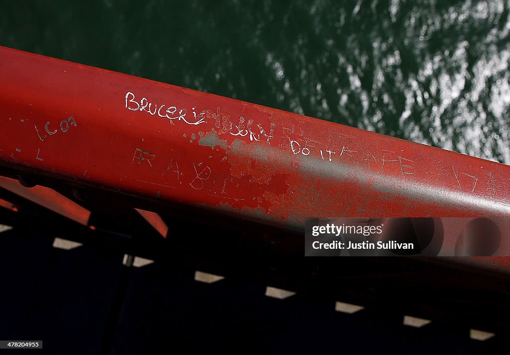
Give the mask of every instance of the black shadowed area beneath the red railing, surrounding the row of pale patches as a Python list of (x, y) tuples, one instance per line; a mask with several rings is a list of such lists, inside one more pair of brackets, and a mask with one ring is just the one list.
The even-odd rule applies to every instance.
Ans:
[[(47, 353), (167, 353), (182, 346), (467, 354), (498, 353), (508, 345), (504, 275), (407, 257), (305, 258), (303, 240), (292, 234), (220, 227), (213, 233), (200, 223), (190, 231), (180, 218), (165, 217), (170, 232), (164, 240), (136, 221), (130, 222), (136, 233), (126, 235), (109, 231), (106, 215), (93, 231), (59, 228), (58, 216), (46, 212), (37, 219), (36, 207), (29, 212), (0, 213), (0, 224), (14, 226), (0, 233), (0, 338), (42, 340)], [(56, 236), (84, 245), (56, 249)], [(126, 267), (124, 253), (155, 263)], [(225, 279), (197, 282), (196, 270)], [(296, 294), (270, 298), (267, 286)], [(336, 301), (365, 309), (336, 312)], [(413, 328), (402, 324), (404, 315), (432, 322)], [(496, 336), (471, 340), (470, 328)]]

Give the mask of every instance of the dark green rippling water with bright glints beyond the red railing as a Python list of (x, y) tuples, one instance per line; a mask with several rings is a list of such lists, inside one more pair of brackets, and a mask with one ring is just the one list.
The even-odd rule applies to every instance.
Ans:
[(0, 45), (510, 164), (508, 1), (70, 3), (2, 1)]

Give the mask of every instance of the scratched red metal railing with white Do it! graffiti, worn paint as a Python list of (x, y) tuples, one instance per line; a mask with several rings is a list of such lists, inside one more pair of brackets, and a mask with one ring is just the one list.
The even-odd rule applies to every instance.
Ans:
[(0, 48), (0, 165), (282, 228), (510, 216), (510, 167)]

